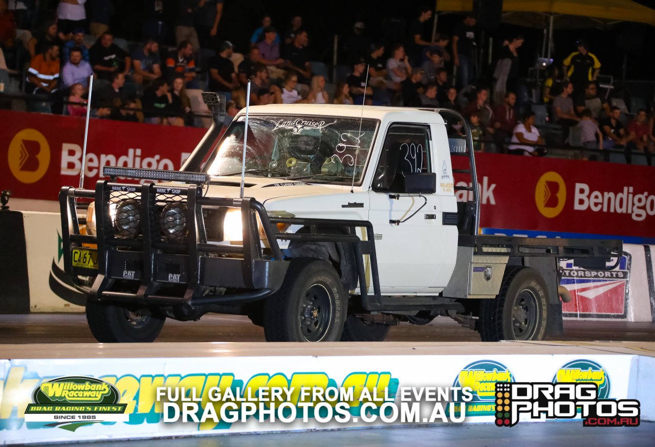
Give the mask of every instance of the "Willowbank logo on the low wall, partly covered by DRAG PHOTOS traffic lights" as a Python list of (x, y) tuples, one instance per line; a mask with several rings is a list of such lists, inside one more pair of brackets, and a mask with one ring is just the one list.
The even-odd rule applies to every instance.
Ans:
[[(481, 360), (466, 365), (453, 382), (453, 387), (470, 387), (473, 399), (466, 402), (466, 416), (490, 416), (496, 413), (496, 383), (515, 382), (514, 375), (502, 363)], [(455, 412), (462, 402), (453, 402)]]

